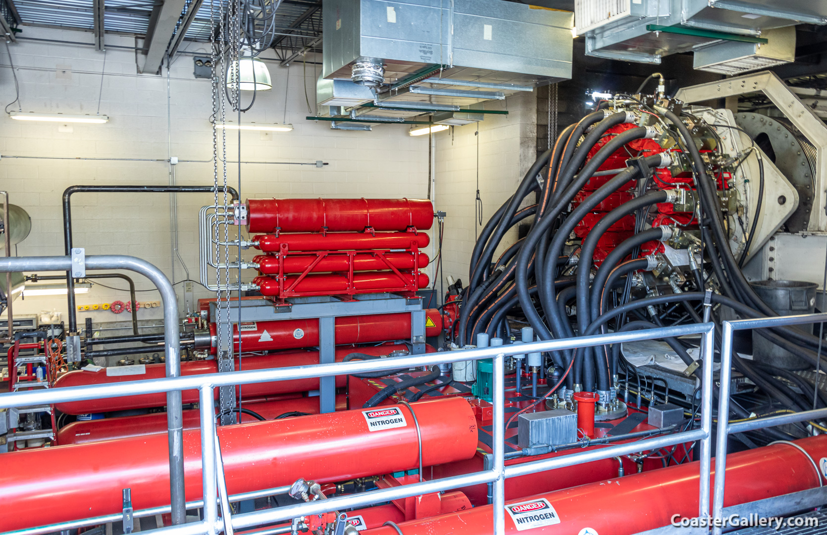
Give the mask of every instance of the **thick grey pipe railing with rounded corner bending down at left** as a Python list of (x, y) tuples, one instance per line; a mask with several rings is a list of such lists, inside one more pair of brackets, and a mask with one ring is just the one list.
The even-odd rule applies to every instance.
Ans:
[[(180, 339), (178, 325), (178, 299), (166, 275), (146, 260), (135, 256), (95, 255), (84, 256), (86, 270), (128, 270), (150, 279), (160, 293), (164, 304), (164, 345), (166, 347), (166, 375), (181, 375)], [(0, 259), (0, 273), (12, 271), (71, 271), (71, 256), (19, 256)], [(11, 323), (11, 322), (9, 322)], [(172, 520), (175, 524), (186, 522), (184, 498), (184, 417), (182, 415), (181, 391), (165, 389), (167, 407), (167, 428), (170, 442), (170, 502)], [(87, 398), (93, 399), (93, 398)], [(15, 405), (25, 407), (38, 403)], [(57, 430), (55, 430), (56, 432)]]

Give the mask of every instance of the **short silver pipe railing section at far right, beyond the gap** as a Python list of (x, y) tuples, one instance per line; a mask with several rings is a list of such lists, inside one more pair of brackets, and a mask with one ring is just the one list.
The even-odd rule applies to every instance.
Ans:
[[(726, 448), (729, 435), (735, 432), (753, 431), (755, 429), (771, 428), (787, 423), (798, 423), (805, 420), (827, 417), (827, 408), (809, 410), (801, 413), (782, 414), (768, 418), (753, 418), (743, 422), (729, 423), (729, 385), (732, 380), (732, 342), (735, 331), (746, 329), (762, 329), (771, 327), (786, 327), (801, 325), (802, 323), (827, 322), (827, 313), (799, 314), (795, 316), (776, 316), (772, 318), (737, 319), (723, 322), (721, 334), (721, 369), (720, 393), (718, 400), (718, 432), (715, 436), (715, 492), (712, 501), (712, 518), (721, 518), (724, 511), (724, 490), (726, 485)], [(818, 378), (815, 379), (818, 381)], [(705, 514), (704, 512), (701, 512)], [(713, 528), (712, 533), (719, 535), (721, 528)]]

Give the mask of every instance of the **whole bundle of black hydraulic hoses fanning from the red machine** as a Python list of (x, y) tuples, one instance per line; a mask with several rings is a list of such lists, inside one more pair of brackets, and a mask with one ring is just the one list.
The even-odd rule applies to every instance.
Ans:
[[(704, 161), (691, 138), (691, 133), (674, 113), (662, 108), (646, 109), (661, 116), (659, 121), (662, 126), (672, 131), (679, 148), (690, 156), (702, 214), (700, 227), (704, 242), (703, 260), (712, 265), (715, 279), (723, 293), (721, 296), (715, 296), (715, 303), (733, 308), (737, 313), (751, 318), (777, 315), (755, 294), (740, 269), (741, 259), (736, 260), (729, 248), (715, 180), (706, 173)], [(477, 332), (488, 332), (490, 335), (501, 332), (505, 317), (518, 309), (542, 340), (595, 333), (598, 332), (597, 327), (593, 328), (595, 324), (605, 326), (613, 319), (617, 322), (619, 318), (625, 317), (625, 313), (653, 304), (682, 303), (692, 321), (701, 321), (695, 308), (696, 304), (703, 300), (703, 288), (700, 287), (697, 287), (695, 292), (634, 300), (606, 311), (610, 296), (618, 285), (626, 292), (620, 296), (620, 302), (625, 303), (629, 300), (629, 284), (624, 281), (637, 270), (653, 268), (648, 259), (633, 258), (624, 261), (625, 257), (630, 253), (636, 254), (639, 247), (648, 241), (666, 241), (672, 231), (662, 228), (640, 230), (645, 222), (642, 220), (642, 214), (648, 212), (648, 208), (653, 204), (667, 200), (666, 192), (647, 191), (648, 182), (638, 188), (638, 197), (605, 214), (591, 229), (582, 243), (579, 259), (576, 259), (576, 277), (562, 276), (570, 263), (570, 256), (564, 256), (563, 248), (576, 224), (612, 193), (629, 189), (629, 183), (634, 180), (648, 179), (651, 169), (667, 164), (661, 155), (633, 159), (634, 161), (627, 162), (631, 164), (629, 167), (620, 170), (614, 178), (606, 181), (588, 197), (576, 198), (595, 171), (604, 165), (615, 151), (629, 141), (650, 136), (650, 131), (644, 127), (629, 128), (610, 138), (605, 136), (609, 128), (623, 122), (631, 122), (626, 112), (600, 110), (566, 127), (552, 149), (547, 150), (534, 162), (514, 195), (508, 198), (485, 224), (471, 255), (469, 284), (463, 290), (460, 318), (455, 323), (458, 327), (456, 342), (459, 346), (470, 343)], [(589, 128), (590, 131), (584, 137), (583, 134)], [(600, 149), (595, 151), (599, 141)], [(759, 165), (759, 171), (763, 174), (762, 165)], [(527, 208), (520, 208), (529, 196), (532, 197), (533, 204)], [(572, 202), (579, 204), (570, 211)], [(630, 214), (638, 218), (635, 227), (640, 232), (615, 247), (601, 262), (594, 278), (590, 280), (595, 248), (600, 237), (614, 223)], [(757, 220), (758, 215), (754, 215), (753, 221)], [(506, 233), (531, 216), (534, 217), (528, 235), (507, 247), (500, 258), (494, 261), (494, 252)], [(698, 286), (700, 277), (697, 275), (700, 274), (695, 275), (695, 284)], [(702, 280), (700, 282), (703, 283)], [(576, 299), (576, 325), (572, 325), (566, 315), (566, 304), (572, 299)], [(653, 319), (660, 321), (657, 318)], [(717, 308), (712, 319), (719, 322)], [(615, 325), (614, 329), (652, 327), (657, 327), (657, 324), (633, 321), (625, 325)], [(816, 351), (813, 351), (819, 347), (818, 337), (787, 327), (764, 329), (760, 334), (811, 364), (815, 365), (819, 358)], [(667, 339), (666, 342), (682, 360), (691, 361), (686, 347), (681, 342), (673, 339)], [(552, 353), (551, 358), (555, 365), (564, 369), (568, 369), (572, 359), (574, 360), (572, 373), (566, 376), (567, 389), (572, 389), (578, 384), (587, 391), (593, 391), (595, 387), (597, 390), (608, 390), (611, 375), (617, 371), (618, 353), (619, 347), (595, 347)], [(812, 395), (796, 394), (784, 382), (778, 380), (776, 375), (784, 376), (782, 374), (773, 375), (773, 370), (749, 365), (737, 356), (735, 365), (765, 394), (787, 408), (797, 410), (805, 406), (806, 402), (813, 401)], [(815, 401), (824, 404), (823, 399)], [(741, 410), (743, 412), (743, 409)], [(740, 416), (744, 417), (745, 414)]]

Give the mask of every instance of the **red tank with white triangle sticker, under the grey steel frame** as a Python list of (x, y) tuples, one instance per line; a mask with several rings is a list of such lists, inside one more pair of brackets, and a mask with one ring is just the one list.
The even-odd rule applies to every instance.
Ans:
[[(437, 308), (425, 310), (425, 335), (439, 336), (442, 317)], [(370, 344), (411, 337), (410, 313), (370, 314), (336, 318), (336, 343)], [(216, 324), (210, 323), (215, 353)], [(266, 334), (265, 334), (266, 333)], [(232, 326), (232, 341), (238, 347), (238, 325)], [(318, 346), (318, 319), (284, 319), (271, 322), (241, 322), (241, 351), (275, 351)]]

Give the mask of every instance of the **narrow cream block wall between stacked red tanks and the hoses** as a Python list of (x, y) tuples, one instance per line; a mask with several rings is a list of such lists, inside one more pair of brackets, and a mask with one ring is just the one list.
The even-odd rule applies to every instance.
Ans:
[[(443, 270), (445, 278), (452, 275), (462, 279), (463, 284), (468, 280), (468, 263), (476, 236), (514, 193), (536, 159), (536, 92), (517, 93), (504, 101), (485, 103), (485, 109), (508, 110), (509, 114), (485, 115), (482, 122), (435, 134), (436, 203), (438, 209), (447, 212)], [(475, 220), (477, 174), (482, 200), (481, 225)], [(530, 203), (533, 201), (524, 204)], [(495, 259), (516, 239), (514, 229), (504, 237)]]

